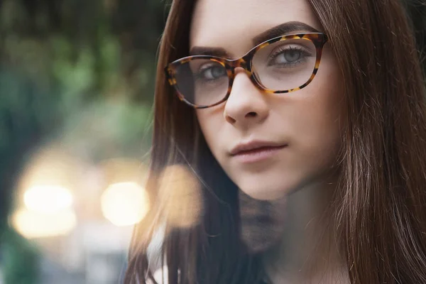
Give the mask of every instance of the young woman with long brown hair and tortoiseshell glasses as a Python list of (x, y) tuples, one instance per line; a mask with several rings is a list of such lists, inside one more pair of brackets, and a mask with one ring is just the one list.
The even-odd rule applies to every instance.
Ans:
[[(126, 283), (155, 281), (158, 224), (167, 283), (426, 283), (426, 97), (401, 1), (175, 0), (156, 84)], [(200, 191), (164, 185), (182, 167)], [(182, 188), (168, 216), (197, 214), (159, 217)]]

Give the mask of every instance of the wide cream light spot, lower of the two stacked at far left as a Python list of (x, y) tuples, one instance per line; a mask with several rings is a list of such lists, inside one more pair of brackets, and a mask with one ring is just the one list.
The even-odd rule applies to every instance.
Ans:
[(55, 214), (21, 209), (12, 217), (13, 226), (28, 239), (68, 234), (77, 224), (75, 213), (65, 209)]

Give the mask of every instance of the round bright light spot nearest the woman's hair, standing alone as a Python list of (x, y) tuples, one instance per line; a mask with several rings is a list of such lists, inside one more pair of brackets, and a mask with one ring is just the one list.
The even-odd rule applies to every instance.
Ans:
[(136, 224), (149, 210), (146, 190), (135, 182), (110, 185), (101, 197), (104, 217), (116, 226)]

